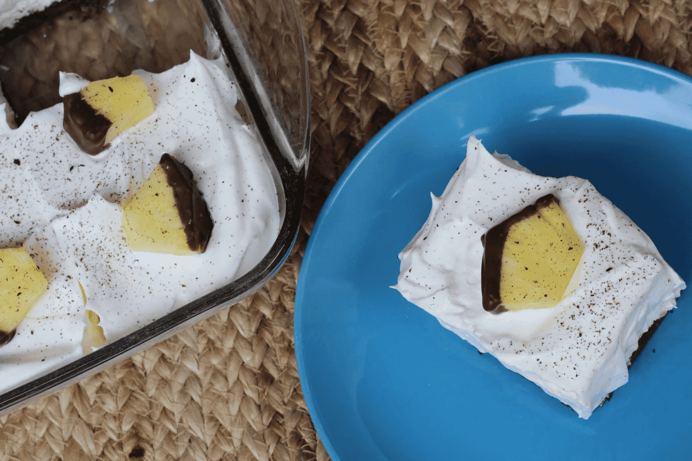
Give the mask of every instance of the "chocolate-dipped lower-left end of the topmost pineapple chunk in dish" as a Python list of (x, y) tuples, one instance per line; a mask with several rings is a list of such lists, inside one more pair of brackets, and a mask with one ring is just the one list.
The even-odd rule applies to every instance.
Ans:
[(110, 120), (91, 107), (81, 93), (66, 95), (62, 102), (62, 126), (82, 151), (95, 156), (108, 147), (104, 141), (111, 128)]

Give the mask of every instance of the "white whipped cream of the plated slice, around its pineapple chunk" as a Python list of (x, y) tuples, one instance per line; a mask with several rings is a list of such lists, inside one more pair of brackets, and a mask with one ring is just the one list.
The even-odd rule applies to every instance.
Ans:
[[(565, 298), (554, 308), (486, 312), (480, 237), (546, 194), (558, 198), (584, 245)], [(399, 258), (394, 288), (403, 297), (585, 419), (627, 382), (639, 337), (685, 288), (650, 238), (588, 180), (537, 176), (473, 136)]]

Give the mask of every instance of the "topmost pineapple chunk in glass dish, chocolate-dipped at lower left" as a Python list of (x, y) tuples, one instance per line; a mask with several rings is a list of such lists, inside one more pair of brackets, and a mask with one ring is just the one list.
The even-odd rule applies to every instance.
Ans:
[(123, 131), (154, 113), (139, 75), (91, 82), (63, 98), (63, 126), (82, 151), (96, 155)]

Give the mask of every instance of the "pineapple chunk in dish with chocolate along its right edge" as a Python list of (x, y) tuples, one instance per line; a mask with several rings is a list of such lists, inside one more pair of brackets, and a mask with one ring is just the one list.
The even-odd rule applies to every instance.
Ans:
[(213, 227), (192, 172), (167, 153), (122, 206), (122, 229), (135, 251), (203, 253)]

